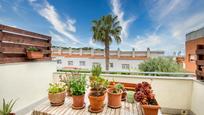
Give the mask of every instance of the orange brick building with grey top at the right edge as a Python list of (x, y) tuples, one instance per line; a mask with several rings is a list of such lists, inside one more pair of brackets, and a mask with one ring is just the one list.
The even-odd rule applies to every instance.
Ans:
[(198, 45), (204, 45), (204, 27), (186, 34), (185, 69), (188, 72), (195, 72), (196, 70), (196, 49)]

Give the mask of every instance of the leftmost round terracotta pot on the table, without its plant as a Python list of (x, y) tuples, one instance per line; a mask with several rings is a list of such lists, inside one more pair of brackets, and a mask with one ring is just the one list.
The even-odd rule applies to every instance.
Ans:
[(66, 91), (56, 93), (56, 94), (48, 93), (48, 98), (52, 106), (63, 105), (65, 97), (66, 97)]

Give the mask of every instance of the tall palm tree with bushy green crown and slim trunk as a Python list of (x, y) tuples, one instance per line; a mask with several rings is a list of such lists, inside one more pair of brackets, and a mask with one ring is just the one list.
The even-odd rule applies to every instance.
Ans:
[(105, 46), (106, 70), (109, 70), (109, 45), (113, 39), (117, 44), (121, 43), (122, 27), (117, 16), (102, 16), (99, 20), (94, 20), (92, 25), (93, 41), (100, 42)]

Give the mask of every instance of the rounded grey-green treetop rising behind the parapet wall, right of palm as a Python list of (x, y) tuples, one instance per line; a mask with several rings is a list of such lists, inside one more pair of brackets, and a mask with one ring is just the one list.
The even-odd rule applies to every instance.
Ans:
[(182, 72), (182, 66), (172, 58), (151, 58), (141, 64), (139, 69), (144, 72)]

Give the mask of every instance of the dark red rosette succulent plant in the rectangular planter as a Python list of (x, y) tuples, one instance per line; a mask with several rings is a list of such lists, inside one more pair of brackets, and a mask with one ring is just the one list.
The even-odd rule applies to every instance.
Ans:
[(137, 102), (143, 105), (157, 105), (152, 87), (148, 82), (136, 84), (135, 92), (135, 100)]

